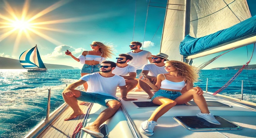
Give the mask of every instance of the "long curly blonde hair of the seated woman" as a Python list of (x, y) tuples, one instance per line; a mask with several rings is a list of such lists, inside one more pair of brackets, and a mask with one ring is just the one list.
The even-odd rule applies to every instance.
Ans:
[(188, 63), (179, 62), (175, 60), (167, 61), (166, 63), (170, 63), (173, 67), (178, 70), (178, 73), (186, 78), (191, 83), (197, 82), (199, 75), (197, 67), (191, 66)]

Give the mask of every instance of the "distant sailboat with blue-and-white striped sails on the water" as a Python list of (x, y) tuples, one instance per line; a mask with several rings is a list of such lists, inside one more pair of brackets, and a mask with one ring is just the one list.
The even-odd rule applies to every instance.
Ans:
[(19, 57), (21, 65), (28, 69), (28, 72), (46, 72), (47, 69), (41, 60), (37, 45), (24, 51)]

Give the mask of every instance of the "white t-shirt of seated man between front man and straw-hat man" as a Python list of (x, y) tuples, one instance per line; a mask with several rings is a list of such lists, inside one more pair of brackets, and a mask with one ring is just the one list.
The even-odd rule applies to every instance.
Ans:
[(113, 74), (121, 76), (128, 76), (131, 72), (136, 73), (136, 68), (132, 65), (128, 65), (126, 67), (115, 67), (115, 69), (112, 71)]

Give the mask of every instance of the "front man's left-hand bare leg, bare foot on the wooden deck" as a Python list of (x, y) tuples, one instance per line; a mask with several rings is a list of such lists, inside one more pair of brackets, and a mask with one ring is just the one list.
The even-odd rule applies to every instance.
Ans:
[[(79, 97), (81, 95), (80, 91), (78, 90), (72, 90), (73, 93), (75, 93), (76, 97)], [(83, 111), (80, 109), (79, 105), (77, 104), (77, 99), (72, 96), (72, 97), (68, 97), (66, 95), (64, 95), (64, 93), (62, 93), (63, 99), (64, 101), (73, 109), (73, 113), (68, 116), (66, 119), (64, 119), (65, 121), (70, 120), (75, 118), (76, 116), (79, 116), (81, 114), (83, 114)]]

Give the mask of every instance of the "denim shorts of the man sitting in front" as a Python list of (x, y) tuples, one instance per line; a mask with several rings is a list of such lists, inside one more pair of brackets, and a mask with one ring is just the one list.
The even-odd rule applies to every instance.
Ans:
[[(98, 103), (102, 106), (108, 107), (107, 102), (112, 100), (117, 100), (115, 97), (102, 95), (99, 93), (90, 93), (85, 91), (80, 91), (81, 96), (77, 98), (79, 101), (89, 102), (89, 103)], [(119, 101), (120, 102), (120, 101)]]

